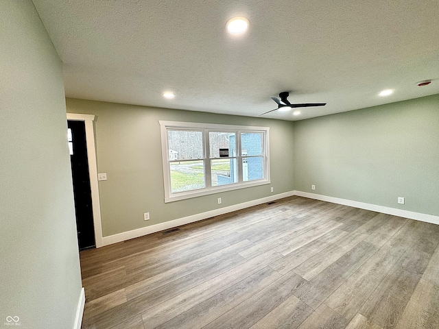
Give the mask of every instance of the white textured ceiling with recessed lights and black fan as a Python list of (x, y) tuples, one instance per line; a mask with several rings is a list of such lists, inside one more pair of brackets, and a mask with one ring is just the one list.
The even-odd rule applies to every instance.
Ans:
[(327, 102), (264, 116), (297, 120), (439, 93), (439, 0), (33, 1), (67, 97), (252, 117), (285, 90)]

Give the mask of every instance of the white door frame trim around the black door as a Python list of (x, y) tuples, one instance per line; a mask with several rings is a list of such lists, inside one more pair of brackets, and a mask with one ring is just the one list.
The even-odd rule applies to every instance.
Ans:
[(102, 241), (101, 203), (99, 201), (99, 183), (97, 180), (97, 161), (95, 145), (95, 114), (67, 113), (67, 120), (84, 121), (87, 147), (88, 174), (90, 175), (91, 206), (93, 208), (93, 226), (95, 226), (96, 247), (104, 245)]

